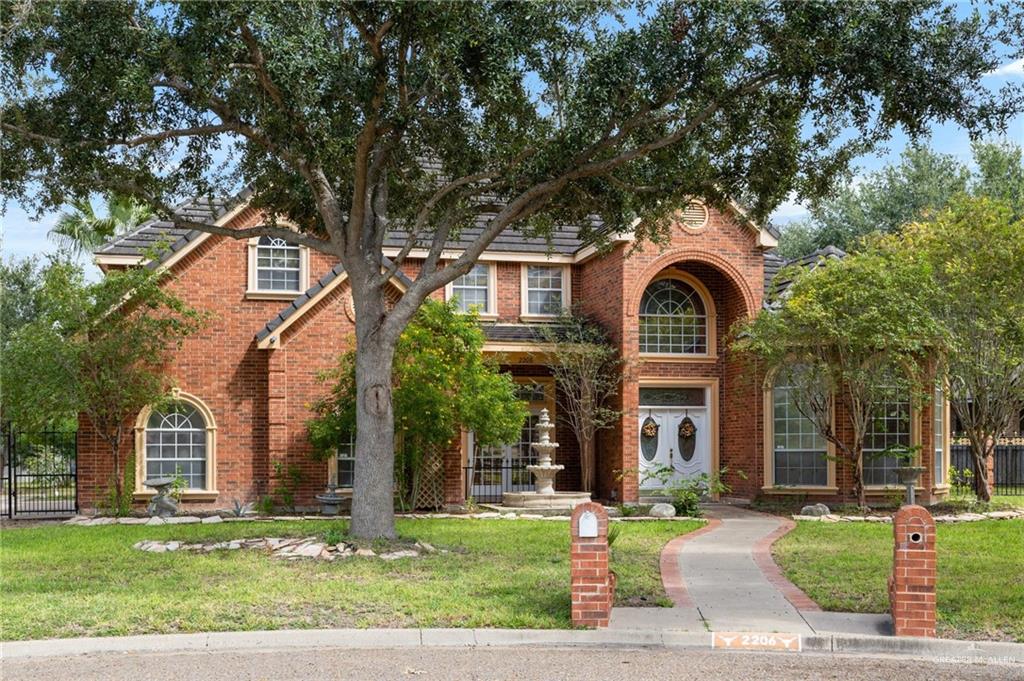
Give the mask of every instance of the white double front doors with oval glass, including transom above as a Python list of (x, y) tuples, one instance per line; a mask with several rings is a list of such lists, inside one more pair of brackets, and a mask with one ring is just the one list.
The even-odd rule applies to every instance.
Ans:
[[(640, 388), (638, 462), (641, 490), (712, 471), (710, 388)], [(666, 474), (671, 471), (670, 474)]]

